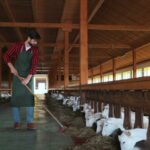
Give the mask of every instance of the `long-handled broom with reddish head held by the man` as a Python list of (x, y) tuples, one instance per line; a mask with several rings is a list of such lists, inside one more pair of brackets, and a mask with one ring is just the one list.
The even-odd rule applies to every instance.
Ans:
[[(21, 77), (20, 77), (19, 75), (18, 75), (17, 77), (18, 77), (18, 79), (19, 79), (20, 81), (22, 81), (22, 79), (21, 79)], [(24, 86), (26, 87), (26, 89), (27, 89), (33, 96), (36, 97), (37, 100), (39, 100), (38, 96), (35, 95), (35, 94), (32, 92), (32, 90), (31, 90), (27, 85), (24, 85)], [(45, 110), (49, 115), (52, 116), (52, 118), (53, 118), (53, 119), (57, 122), (57, 124), (61, 127), (61, 128), (59, 129), (59, 132), (63, 133), (67, 127), (64, 126), (64, 125), (52, 114), (52, 112), (51, 112), (46, 106), (43, 106), (43, 108), (44, 108), (44, 110)]]

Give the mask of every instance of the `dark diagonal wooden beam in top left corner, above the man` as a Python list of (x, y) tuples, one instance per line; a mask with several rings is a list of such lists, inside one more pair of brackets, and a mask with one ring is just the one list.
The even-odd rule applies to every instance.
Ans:
[[(0, 1), (1, 5), (3, 6), (4, 10), (6, 11), (7, 15), (8, 15), (8, 18), (13, 21), (13, 22), (16, 22), (16, 19), (11, 11), (11, 8), (9, 6), (9, 3), (8, 3), (8, 0), (3, 0), (3, 1)], [(18, 28), (15, 28), (15, 31), (16, 33), (18, 34), (19, 38), (21, 40), (23, 40), (23, 36), (22, 36), (22, 33), (21, 31), (18, 29)]]

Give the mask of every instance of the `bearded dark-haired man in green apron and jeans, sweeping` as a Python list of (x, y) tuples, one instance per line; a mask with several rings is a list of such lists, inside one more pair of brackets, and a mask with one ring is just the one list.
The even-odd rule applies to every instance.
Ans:
[[(40, 35), (31, 30), (25, 42), (16, 43), (4, 54), (4, 61), (14, 75), (11, 99), (14, 129), (21, 127), (20, 107), (26, 107), (27, 129), (36, 129), (33, 123), (34, 97), (25, 85), (32, 88), (32, 76), (38, 64), (39, 52), (36, 45), (39, 39)], [(14, 65), (11, 62), (12, 59), (15, 61)], [(21, 80), (18, 77), (21, 77)]]

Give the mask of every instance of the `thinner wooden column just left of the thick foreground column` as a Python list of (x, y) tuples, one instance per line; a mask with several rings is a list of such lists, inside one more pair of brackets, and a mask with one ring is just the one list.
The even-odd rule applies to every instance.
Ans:
[(69, 84), (69, 32), (64, 32), (65, 36), (65, 49), (64, 49), (64, 89)]

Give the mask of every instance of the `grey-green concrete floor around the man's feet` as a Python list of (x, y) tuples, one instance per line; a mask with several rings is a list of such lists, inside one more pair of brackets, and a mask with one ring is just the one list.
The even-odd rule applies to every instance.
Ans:
[(14, 130), (11, 107), (0, 106), (0, 150), (65, 150), (73, 144), (71, 138), (59, 133), (56, 122), (46, 116), (36, 121), (37, 130), (28, 131), (25, 110), (21, 111), (22, 128)]

